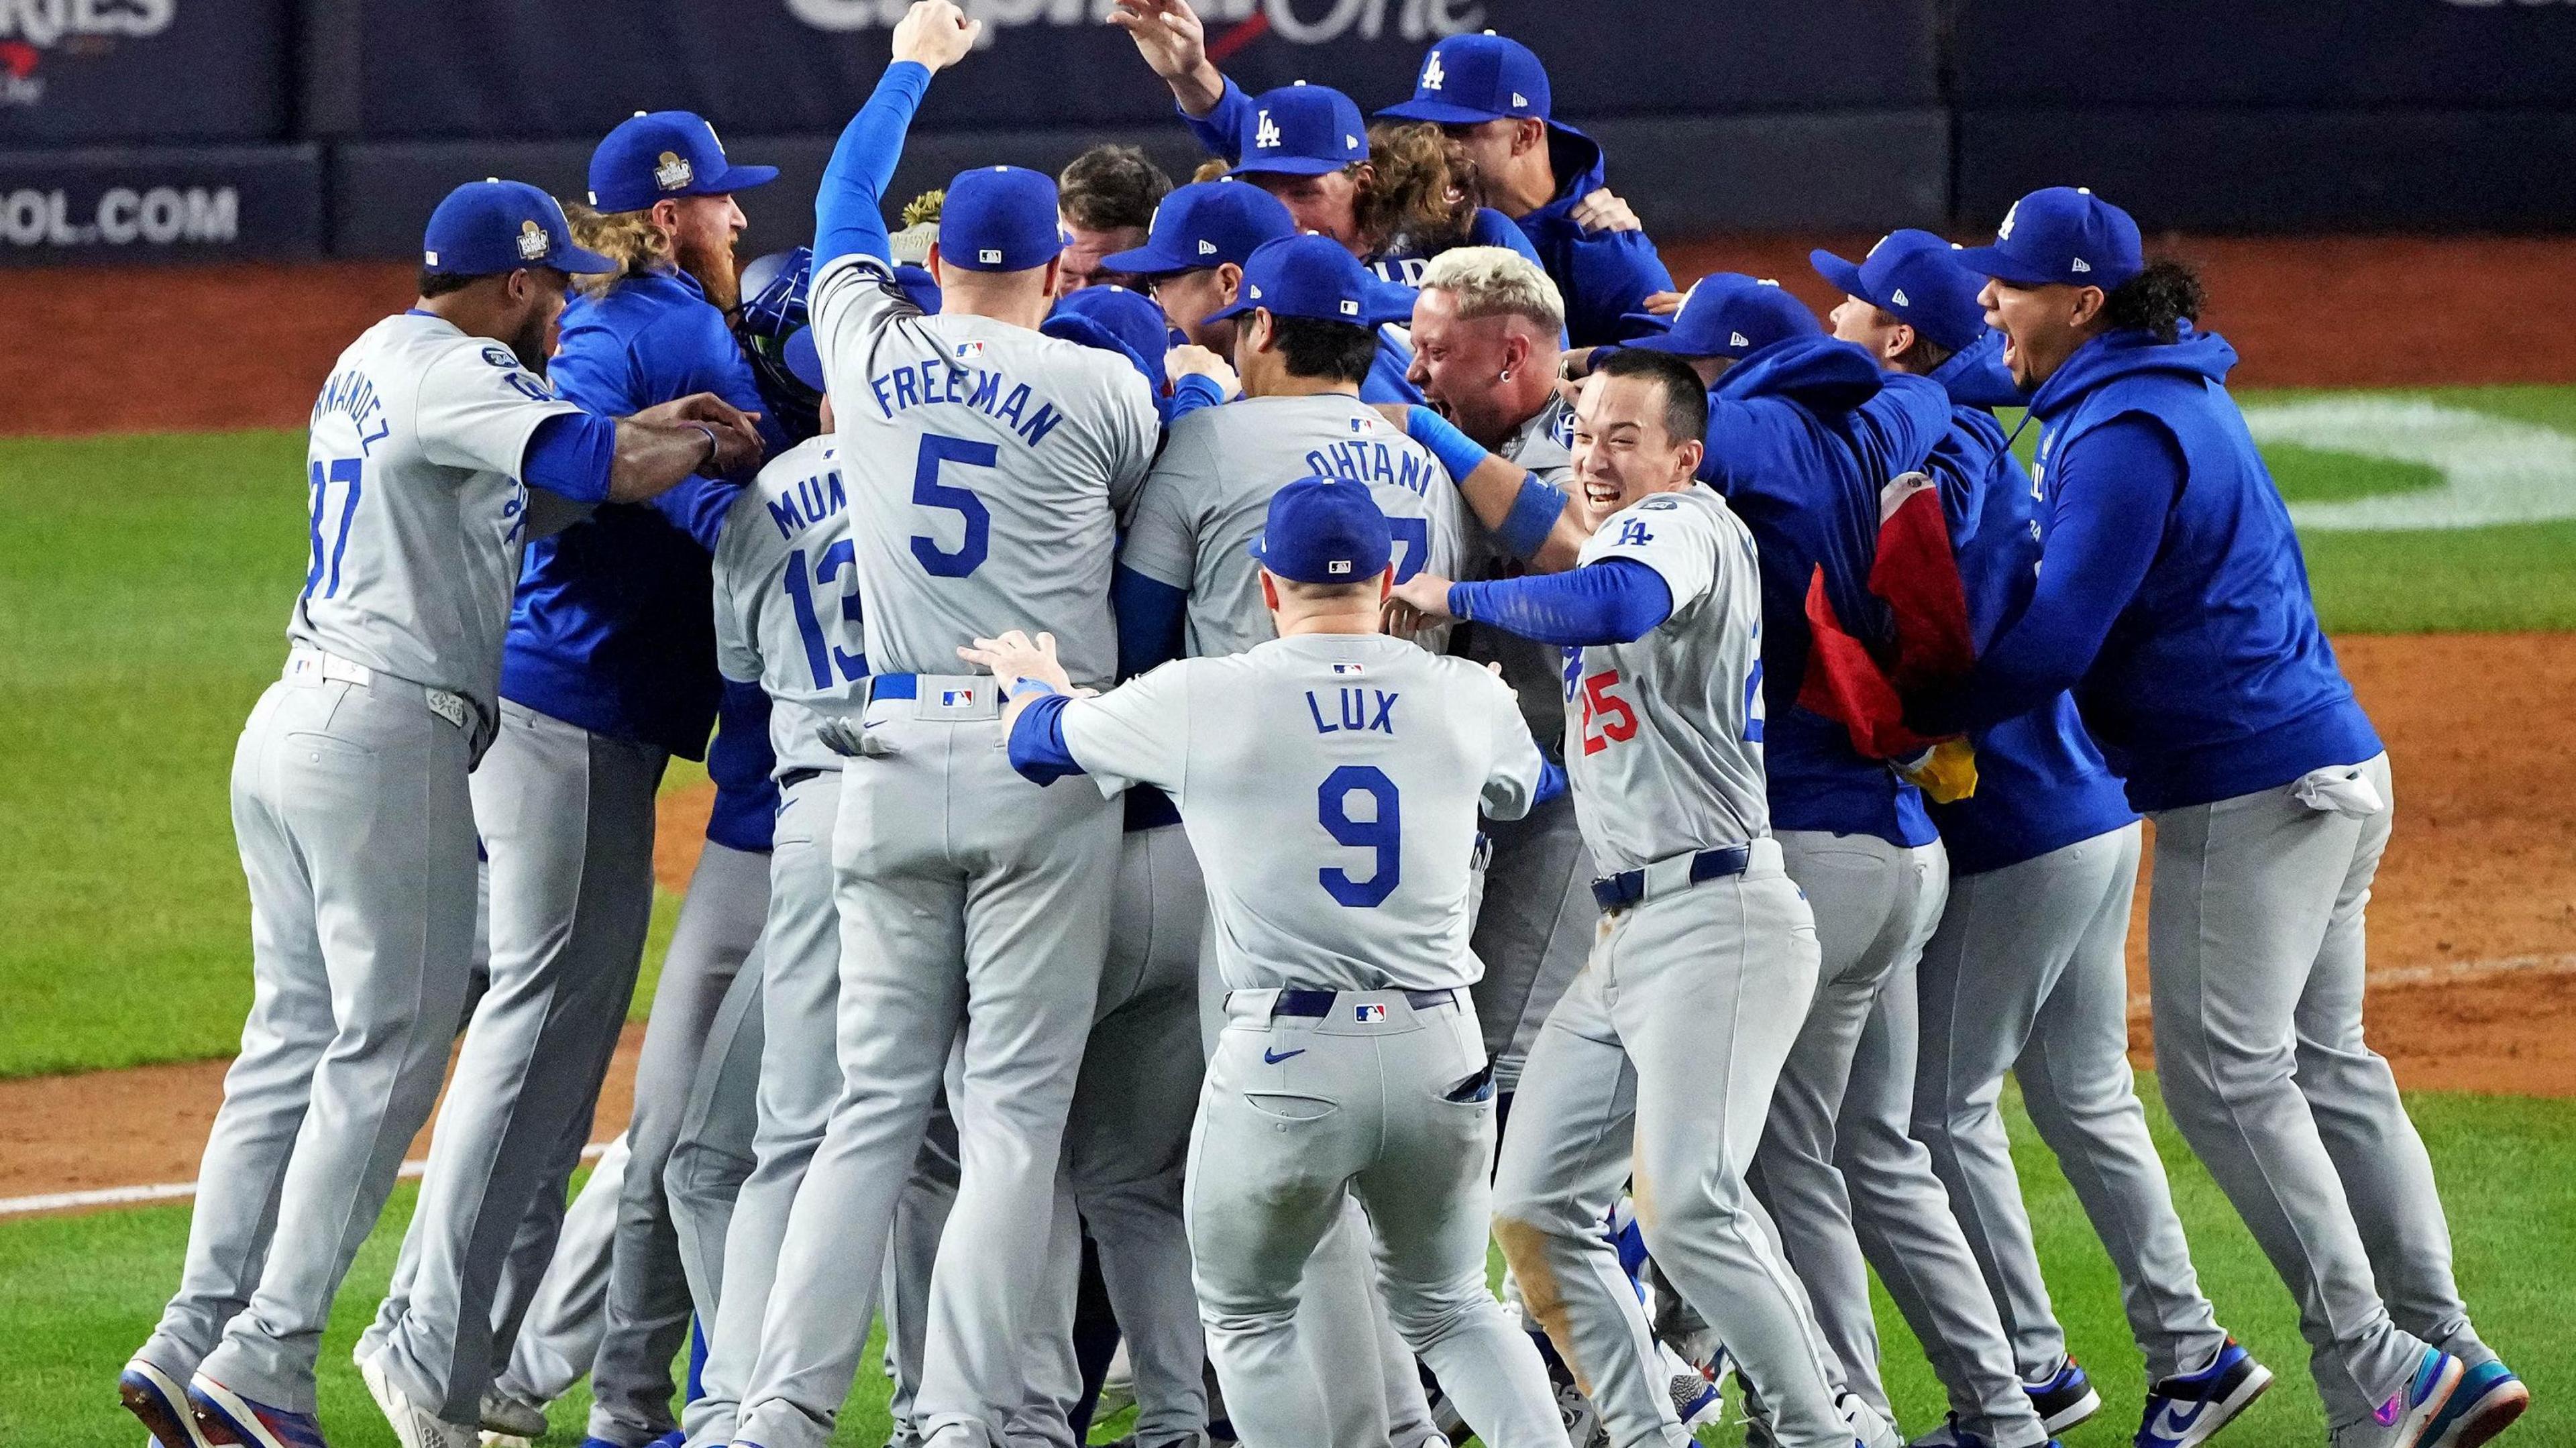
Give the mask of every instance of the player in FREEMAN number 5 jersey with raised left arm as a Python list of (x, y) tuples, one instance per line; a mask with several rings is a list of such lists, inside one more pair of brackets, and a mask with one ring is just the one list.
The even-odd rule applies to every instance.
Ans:
[[(1100, 989), (1118, 809), (1030, 799), (987, 675), (956, 649), (1036, 618), (1066, 667), (1115, 672), (1115, 510), (1151, 461), (1154, 397), (1123, 358), (1036, 332), (1059, 255), (1054, 183), (956, 178), (933, 252), (940, 314), (894, 286), (878, 196), (933, 70), (981, 23), (922, 0), (817, 198), (814, 335), (837, 417), (873, 670), (835, 822), (842, 1092), (796, 1190), (737, 1443), (819, 1448), (850, 1391), (904, 1170), (963, 1028), (961, 1185), (933, 1270), (917, 1417), (994, 1443), (1020, 1402), (1064, 1113)], [(1002, 809), (997, 801), (1010, 799)], [(1023, 804), (1025, 801), (1025, 804)]]

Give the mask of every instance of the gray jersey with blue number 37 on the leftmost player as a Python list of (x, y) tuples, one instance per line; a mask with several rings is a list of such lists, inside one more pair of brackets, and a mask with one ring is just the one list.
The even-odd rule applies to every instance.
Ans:
[(489, 721), (528, 533), (536, 425), (580, 412), (510, 348), (404, 312), (358, 335), (314, 399), (312, 559), (286, 636), (430, 688)]

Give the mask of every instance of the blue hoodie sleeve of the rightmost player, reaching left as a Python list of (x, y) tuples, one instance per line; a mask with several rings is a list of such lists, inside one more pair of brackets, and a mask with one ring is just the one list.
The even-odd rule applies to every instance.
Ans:
[(2050, 487), (2030, 608), (1986, 647), (1968, 678), (1917, 698), (1906, 724), (1924, 734), (1981, 729), (2081, 683), (2156, 562), (2182, 482), (2182, 448), (2143, 415), (2115, 417), (2069, 448)]

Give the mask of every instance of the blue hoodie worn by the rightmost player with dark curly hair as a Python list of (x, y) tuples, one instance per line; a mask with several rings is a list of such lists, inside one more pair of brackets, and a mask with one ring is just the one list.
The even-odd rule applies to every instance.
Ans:
[(1991, 724), (2074, 688), (2136, 809), (2277, 788), (2380, 737), (2316, 626), (2290, 510), (2226, 392), (2236, 348), (2105, 332), (2030, 399), (2043, 567), (1976, 670), (1909, 709)]

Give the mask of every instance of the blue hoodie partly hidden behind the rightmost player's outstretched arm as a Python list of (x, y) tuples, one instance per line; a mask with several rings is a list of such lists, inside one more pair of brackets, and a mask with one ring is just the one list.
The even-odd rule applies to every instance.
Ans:
[[(1989, 332), (1932, 371), (1932, 381), (1950, 392), (1950, 430), (1924, 459), (1924, 472), (1940, 484), (1978, 652), (2020, 618), (2040, 567), (2030, 474), (1989, 412), (2020, 405), (2002, 368), (2002, 343)], [(1976, 794), (1955, 804), (1924, 801), (1953, 873), (2035, 861), (2136, 819), (2120, 799), (2120, 781), (2102, 768), (2102, 752), (2076, 719), (2074, 696), (2058, 693), (1968, 737), (1976, 745)]]

